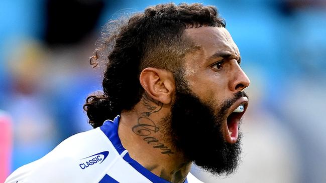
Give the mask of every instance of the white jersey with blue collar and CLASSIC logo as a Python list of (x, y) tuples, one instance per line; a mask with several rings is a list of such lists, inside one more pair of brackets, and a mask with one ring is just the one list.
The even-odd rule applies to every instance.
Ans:
[[(119, 119), (67, 138), (41, 159), (18, 168), (5, 183), (168, 183), (129, 156), (118, 136)], [(189, 173), (187, 182), (201, 181)]]

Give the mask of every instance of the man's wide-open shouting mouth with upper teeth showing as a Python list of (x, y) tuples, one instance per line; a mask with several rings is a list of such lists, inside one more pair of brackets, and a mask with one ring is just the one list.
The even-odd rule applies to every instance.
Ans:
[(247, 106), (248, 99), (242, 97), (233, 105), (233, 107), (231, 107), (224, 129), (224, 135), (227, 142), (237, 142), (239, 136), (239, 123), (246, 112)]

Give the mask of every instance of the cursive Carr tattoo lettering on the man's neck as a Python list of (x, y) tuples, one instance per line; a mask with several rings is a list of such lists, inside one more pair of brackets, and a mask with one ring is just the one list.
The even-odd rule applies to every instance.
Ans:
[(146, 141), (148, 144), (153, 145), (153, 148), (158, 148), (161, 150), (162, 154), (174, 154), (174, 152), (164, 145), (163, 143), (160, 143), (160, 141), (151, 136), (153, 133), (158, 132), (160, 129), (156, 126), (154, 121), (152, 121), (150, 118), (147, 117), (140, 117), (138, 118), (138, 124), (136, 124), (132, 131), (139, 135), (143, 136), (143, 140)]

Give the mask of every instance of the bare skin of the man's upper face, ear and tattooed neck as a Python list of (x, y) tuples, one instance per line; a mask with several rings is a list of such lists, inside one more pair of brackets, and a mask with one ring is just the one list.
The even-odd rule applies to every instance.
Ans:
[[(250, 81), (239, 65), (239, 49), (225, 28), (193, 28), (185, 34), (199, 46), (185, 56), (185, 79), (202, 101), (215, 101), (220, 106), (249, 86)], [(175, 95), (173, 75), (166, 70), (146, 68), (140, 83), (145, 90), (142, 100), (133, 110), (121, 113), (118, 133), (122, 144), (133, 159), (154, 174), (170, 182), (183, 182), (191, 160), (167, 140), (163, 127)]]

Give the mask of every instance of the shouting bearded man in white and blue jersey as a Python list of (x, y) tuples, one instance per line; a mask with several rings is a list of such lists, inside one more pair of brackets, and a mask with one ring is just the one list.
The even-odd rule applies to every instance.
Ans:
[(91, 57), (94, 66), (107, 61), (103, 93), (84, 105), (95, 129), (7, 182), (199, 182), (192, 162), (232, 173), (250, 82), (216, 9), (157, 5), (107, 29)]

